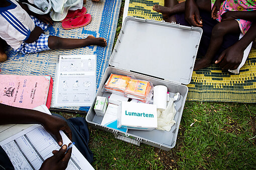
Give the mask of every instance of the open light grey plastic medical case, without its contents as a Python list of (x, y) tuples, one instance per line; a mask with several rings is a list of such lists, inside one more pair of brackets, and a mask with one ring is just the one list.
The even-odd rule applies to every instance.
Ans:
[(129, 129), (124, 133), (100, 124), (103, 117), (97, 116), (93, 110), (95, 100), (86, 121), (126, 142), (137, 145), (142, 142), (164, 150), (173, 148), (188, 93), (185, 84), (191, 80), (201, 35), (199, 27), (126, 17), (96, 96), (105, 95), (101, 90), (111, 73), (134, 75), (137, 79), (151, 81), (154, 86), (166, 85), (170, 97), (176, 92), (181, 93), (176, 102), (176, 123), (170, 131)]

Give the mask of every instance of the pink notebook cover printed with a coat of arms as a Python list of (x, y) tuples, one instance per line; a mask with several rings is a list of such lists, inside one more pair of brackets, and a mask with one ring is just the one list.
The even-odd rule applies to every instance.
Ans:
[(46, 104), (50, 80), (51, 76), (0, 74), (0, 102), (22, 108)]

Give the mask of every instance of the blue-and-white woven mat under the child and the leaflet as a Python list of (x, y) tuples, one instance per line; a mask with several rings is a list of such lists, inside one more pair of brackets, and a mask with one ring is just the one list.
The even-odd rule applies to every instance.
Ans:
[[(7, 47), (8, 60), (0, 63), (0, 73), (20, 75), (51, 75), (54, 80), (59, 55), (96, 54), (98, 88), (105, 68), (108, 65), (108, 59), (111, 55), (120, 6), (121, 0), (100, 0), (99, 2), (87, 0), (85, 7), (87, 8), (87, 13), (92, 15), (91, 23), (81, 28), (64, 30), (61, 27), (61, 22), (54, 22), (54, 25), (49, 26), (45, 31), (46, 34), (66, 38), (86, 38), (88, 35), (104, 37), (107, 40), (106, 47), (86, 46), (72, 50), (48, 50), (29, 55), (16, 53), (11, 49), (11, 47)], [(60, 108), (85, 111), (88, 111), (89, 109), (89, 107)]]

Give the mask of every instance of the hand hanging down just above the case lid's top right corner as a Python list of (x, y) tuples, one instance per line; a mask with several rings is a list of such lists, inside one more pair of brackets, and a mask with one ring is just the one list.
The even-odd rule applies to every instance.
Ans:
[(198, 6), (194, 0), (186, 0), (185, 2), (185, 19), (192, 26), (203, 26)]

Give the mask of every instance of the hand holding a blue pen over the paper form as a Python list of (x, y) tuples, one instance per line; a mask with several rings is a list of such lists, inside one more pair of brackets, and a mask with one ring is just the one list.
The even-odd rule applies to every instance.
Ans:
[[(71, 143), (69, 143), (71, 144)], [(41, 165), (40, 169), (46, 169), (46, 170), (61, 170), (66, 169), (68, 166), (68, 161), (71, 157), (72, 148), (68, 149), (67, 153), (65, 153), (67, 150), (67, 145), (64, 144), (60, 150), (53, 150), (53, 156), (47, 158)]]

